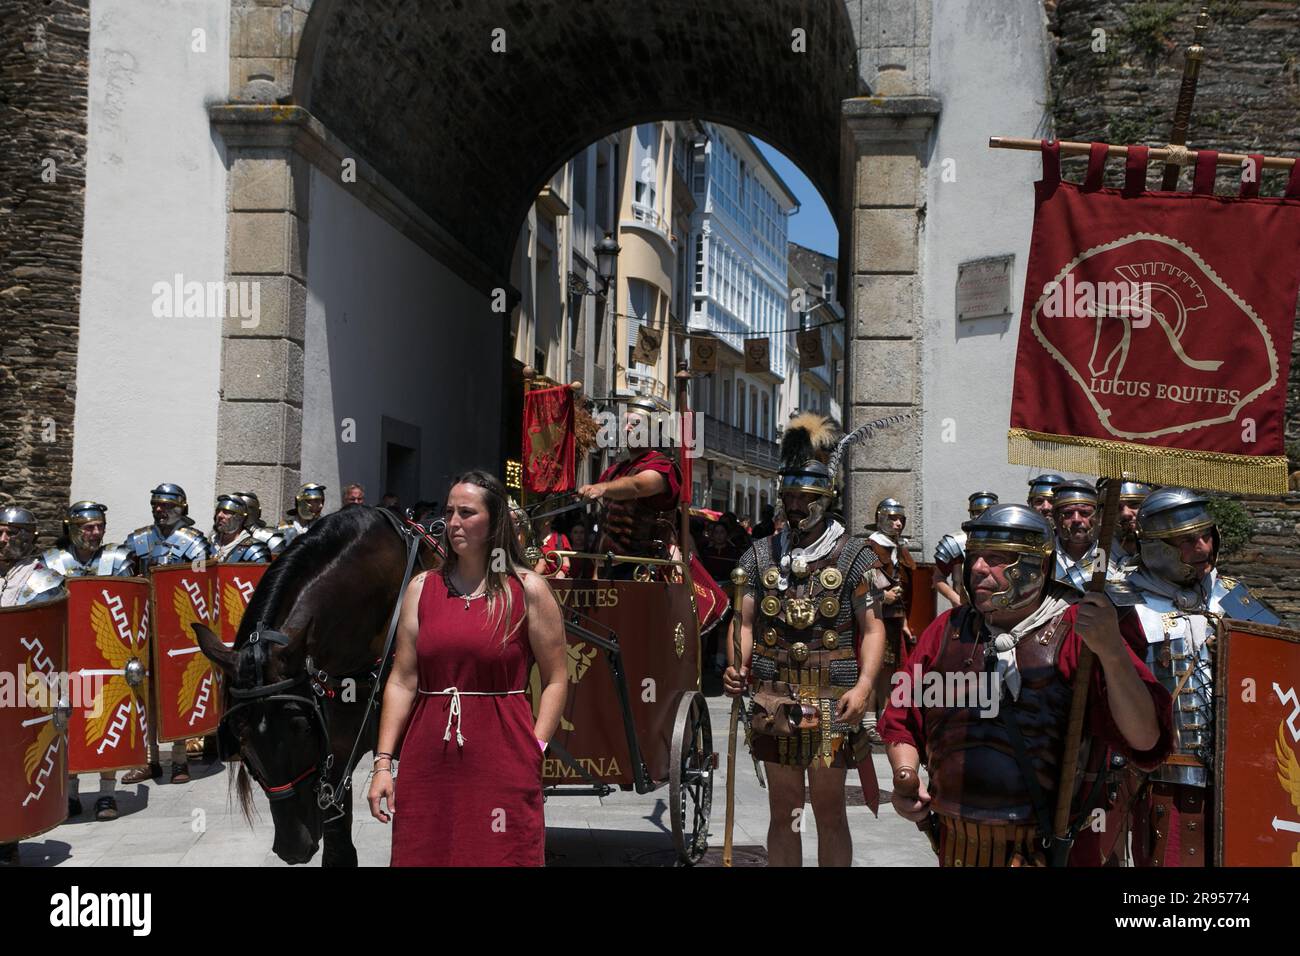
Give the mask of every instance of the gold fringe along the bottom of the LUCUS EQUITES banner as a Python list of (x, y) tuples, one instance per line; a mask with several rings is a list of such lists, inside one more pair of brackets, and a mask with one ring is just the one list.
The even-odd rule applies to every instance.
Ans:
[(1287, 459), (1278, 455), (1228, 455), (1190, 451), (1105, 438), (1031, 432), (1006, 433), (1006, 460), (1035, 468), (1079, 471), (1138, 481), (1235, 494), (1284, 494)]

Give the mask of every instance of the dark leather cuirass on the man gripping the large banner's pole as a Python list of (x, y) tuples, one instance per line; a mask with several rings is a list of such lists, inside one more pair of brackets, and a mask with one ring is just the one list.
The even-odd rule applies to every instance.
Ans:
[[(952, 614), (931, 672), (978, 675), (985, 669), (988, 633), (978, 640), (976, 622), (967, 607)], [(1071, 688), (1057, 670), (1067, 630), (1057, 617), (1020, 639), (1015, 648), (1020, 696), (1013, 705), (1010, 695), (1004, 693), (997, 717), (982, 713), (978, 700), (966, 708), (923, 708), (926, 763), (936, 813), (988, 823), (1035, 822), (1030, 788), (1005, 723), (1013, 718), (1048, 806), (1054, 806), (1070, 711)], [(968, 678), (963, 680), (970, 685)]]

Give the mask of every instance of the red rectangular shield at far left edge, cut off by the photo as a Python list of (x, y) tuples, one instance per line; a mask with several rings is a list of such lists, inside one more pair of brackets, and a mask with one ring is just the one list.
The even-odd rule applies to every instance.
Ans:
[(0, 843), (68, 819), (68, 600), (0, 609)]

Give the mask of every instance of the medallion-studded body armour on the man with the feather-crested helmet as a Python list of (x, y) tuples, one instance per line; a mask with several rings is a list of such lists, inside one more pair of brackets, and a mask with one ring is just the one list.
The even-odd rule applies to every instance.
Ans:
[[(840, 697), (858, 680), (853, 592), (875, 554), (844, 535), (824, 558), (781, 572), (772, 538), (755, 542), (754, 717), (758, 760), (788, 766), (854, 767), (870, 758), (857, 726), (835, 718)], [(742, 562), (744, 563), (744, 562)]]

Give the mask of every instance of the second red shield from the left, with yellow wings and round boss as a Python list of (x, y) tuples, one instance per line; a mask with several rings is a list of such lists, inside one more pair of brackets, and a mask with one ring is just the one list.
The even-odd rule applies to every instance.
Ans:
[(69, 773), (125, 770), (148, 761), (148, 684), (131, 683), (148, 667), (148, 579), (69, 578)]

